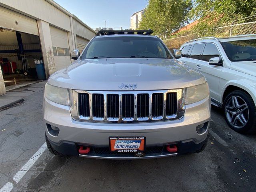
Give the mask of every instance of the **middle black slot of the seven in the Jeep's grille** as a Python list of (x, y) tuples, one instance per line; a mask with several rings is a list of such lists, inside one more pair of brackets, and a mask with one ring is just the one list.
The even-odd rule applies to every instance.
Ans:
[(122, 94), (122, 117), (134, 118), (134, 94)]

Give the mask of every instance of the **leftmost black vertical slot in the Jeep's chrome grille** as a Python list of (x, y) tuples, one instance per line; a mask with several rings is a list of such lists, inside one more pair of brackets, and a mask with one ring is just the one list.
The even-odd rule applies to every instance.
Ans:
[(90, 102), (88, 93), (78, 94), (78, 112), (83, 117), (90, 117)]

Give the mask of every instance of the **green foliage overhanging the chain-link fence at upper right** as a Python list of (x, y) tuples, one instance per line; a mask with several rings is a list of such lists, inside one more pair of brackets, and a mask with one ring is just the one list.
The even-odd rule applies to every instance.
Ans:
[(256, 0), (194, 0), (188, 19), (200, 18), (194, 30), (202, 35), (214, 34), (214, 28), (233, 23), (256, 14)]

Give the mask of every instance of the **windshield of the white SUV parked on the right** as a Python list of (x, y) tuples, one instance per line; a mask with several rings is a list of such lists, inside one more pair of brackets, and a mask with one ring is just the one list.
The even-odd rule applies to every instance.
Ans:
[(256, 60), (256, 39), (222, 42), (230, 61)]

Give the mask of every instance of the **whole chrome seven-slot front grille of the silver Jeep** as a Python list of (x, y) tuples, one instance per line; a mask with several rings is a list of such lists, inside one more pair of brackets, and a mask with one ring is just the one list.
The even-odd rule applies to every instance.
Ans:
[(151, 122), (182, 118), (184, 89), (155, 91), (72, 90), (72, 118), (87, 122)]

